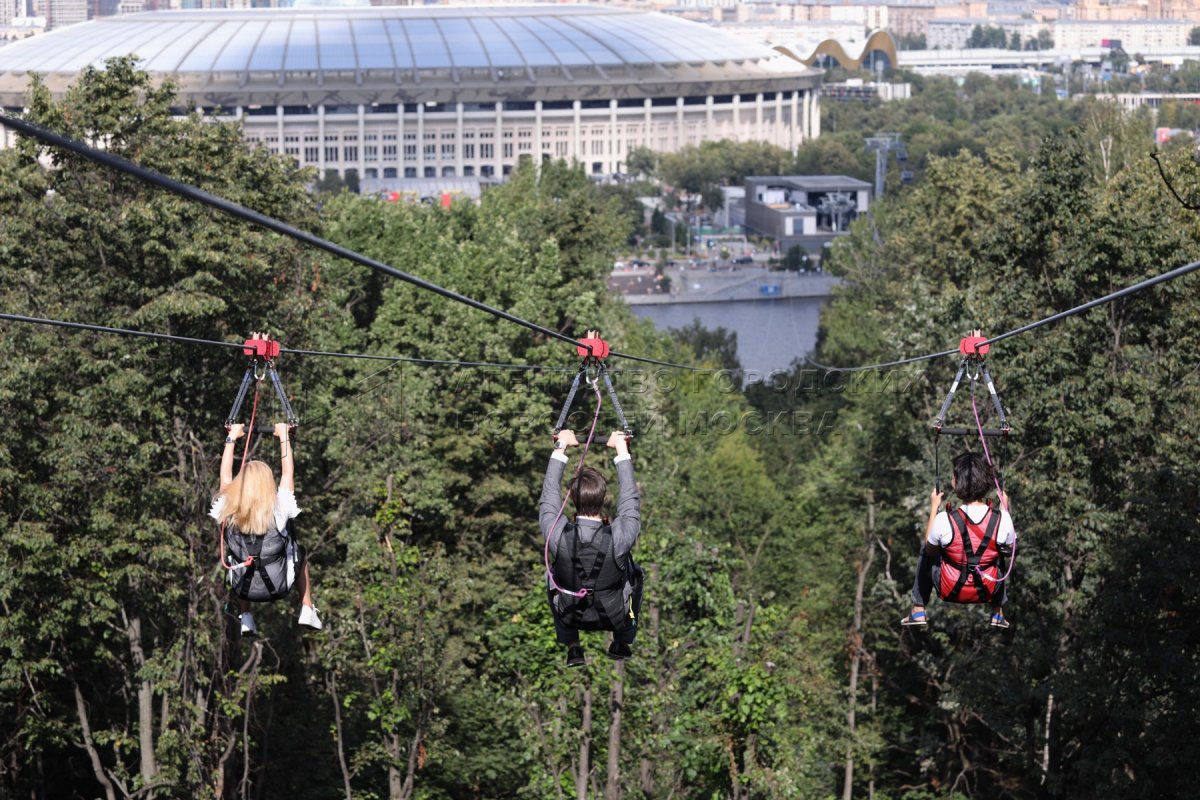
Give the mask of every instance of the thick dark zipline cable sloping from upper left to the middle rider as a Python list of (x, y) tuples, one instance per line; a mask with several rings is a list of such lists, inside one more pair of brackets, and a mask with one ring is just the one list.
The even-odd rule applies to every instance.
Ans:
[[(438, 294), (443, 297), (446, 297), (448, 300), (452, 300), (455, 302), (470, 306), (472, 308), (476, 308), (499, 319), (510, 321), (515, 325), (521, 325), (522, 327), (527, 327), (532, 331), (536, 331), (551, 338), (556, 338), (562, 342), (569, 342), (575, 347), (580, 347), (577, 339), (571, 338), (565, 333), (560, 333), (553, 329), (539, 325), (538, 323), (532, 323), (527, 319), (517, 317), (516, 314), (510, 314), (506, 311), (496, 308), (494, 306), (490, 306), (482, 301), (475, 300), (474, 297), (469, 297), (464, 294), (454, 291), (452, 289), (446, 289), (445, 287), (438, 285), (432, 281), (426, 281), (425, 278), (416, 277), (415, 275), (409, 275), (408, 272), (397, 270), (396, 267), (389, 266), (383, 261), (378, 261), (373, 258), (367, 258), (366, 255), (362, 255), (361, 253), (349, 249), (348, 247), (335, 245), (328, 239), (322, 239), (320, 236), (317, 236), (314, 234), (300, 230), (299, 228), (289, 225), (286, 222), (281, 222), (275, 217), (270, 217), (265, 213), (253, 211), (251, 209), (247, 209), (246, 206), (238, 205), (236, 203), (227, 200), (222, 197), (217, 197), (216, 194), (205, 192), (204, 190), (198, 188), (196, 186), (191, 186), (188, 184), (178, 181), (173, 178), (168, 178), (162, 173), (155, 172), (146, 167), (140, 167), (138, 164), (134, 164), (133, 162), (127, 161), (126, 158), (121, 158), (120, 156), (114, 156), (110, 152), (104, 152), (102, 150), (96, 150), (95, 148), (89, 148), (82, 142), (67, 138), (62, 134), (49, 131), (40, 125), (35, 125), (28, 120), (16, 118), (10, 114), (0, 113), (0, 126), (12, 127), (13, 130), (24, 133), (25, 136), (32, 137), (44, 144), (68, 150), (97, 164), (108, 167), (110, 169), (115, 169), (118, 172), (126, 173), (142, 181), (164, 188), (168, 192), (187, 198), (190, 200), (194, 200), (203, 205), (208, 205), (209, 207), (216, 209), (217, 211), (227, 213), (232, 217), (244, 219), (246, 222), (250, 222), (251, 224), (266, 228), (268, 230), (274, 230), (277, 234), (282, 234), (284, 236), (304, 242), (318, 249), (323, 249), (326, 253), (330, 253), (338, 258), (344, 258), (348, 261), (354, 261), (355, 264), (360, 264), (378, 272), (390, 275), (395, 278), (400, 278), (401, 281), (410, 283), (420, 289), (425, 289), (426, 291), (432, 291), (434, 294)], [(588, 348), (588, 351), (590, 353), (590, 348)], [(660, 361), (658, 359), (646, 359), (642, 356), (624, 355), (619, 353), (612, 353), (612, 355), (622, 359), (629, 359), (632, 361), (655, 363), (659, 366), (671, 367), (674, 369), (698, 369), (697, 367), (690, 367), (688, 365), (682, 365), (682, 363), (673, 363), (670, 361)]]

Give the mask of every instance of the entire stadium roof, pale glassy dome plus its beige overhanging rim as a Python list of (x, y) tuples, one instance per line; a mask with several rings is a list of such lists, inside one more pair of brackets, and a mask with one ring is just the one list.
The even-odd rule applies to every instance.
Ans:
[[(202, 106), (715, 94), (815, 82), (800, 65), (715, 28), (599, 6), (155, 11), (104, 17), (0, 49), (0, 103), (29, 72), (61, 91), (88, 66), (137, 55)], [(788, 83), (792, 82), (792, 83)], [(785, 86), (786, 84), (786, 86)], [(599, 88), (602, 94), (595, 94)], [(590, 88), (590, 90), (589, 90)]]

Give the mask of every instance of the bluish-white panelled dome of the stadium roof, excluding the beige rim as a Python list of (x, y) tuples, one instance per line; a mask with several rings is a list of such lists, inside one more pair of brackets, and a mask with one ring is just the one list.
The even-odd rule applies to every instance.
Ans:
[(150, 72), (305, 73), (703, 64), (769, 58), (715, 29), (590, 6), (167, 11), (7, 47), (0, 71), (78, 72), (136, 53)]

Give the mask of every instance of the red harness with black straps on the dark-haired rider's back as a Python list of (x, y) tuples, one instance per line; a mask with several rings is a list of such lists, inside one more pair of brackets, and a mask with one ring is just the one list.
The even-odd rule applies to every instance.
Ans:
[(996, 533), (1000, 512), (988, 504), (988, 513), (978, 523), (966, 511), (946, 513), (950, 521), (950, 542), (942, 552), (942, 570), (937, 596), (950, 603), (986, 603), (1000, 581), (1000, 549)]

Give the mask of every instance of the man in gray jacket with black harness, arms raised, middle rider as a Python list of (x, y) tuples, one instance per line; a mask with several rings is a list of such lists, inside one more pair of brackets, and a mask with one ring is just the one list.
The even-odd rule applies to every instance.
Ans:
[(642, 498), (634, 479), (629, 441), (623, 432), (608, 437), (617, 451), (617, 515), (604, 518), (607, 483), (600, 473), (584, 468), (571, 482), (575, 521), (564, 509), (562, 482), (566, 471), (566, 449), (577, 446), (572, 431), (554, 435), (554, 451), (546, 467), (539, 501), (539, 524), (547, 547), (552, 576), (547, 576), (550, 607), (559, 644), (566, 645), (566, 666), (587, 663), (580, 631), (612, 631), (608, 657), (632, 655), (629, 645), (637, 636), (642, 606), (642, 570), (631, 551), (642, 530)]

